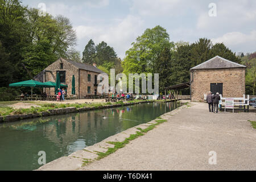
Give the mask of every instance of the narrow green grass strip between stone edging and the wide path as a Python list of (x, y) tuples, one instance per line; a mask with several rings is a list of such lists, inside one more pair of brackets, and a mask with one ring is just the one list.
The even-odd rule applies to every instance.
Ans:
[(155, 124), (151, 124), (146, 129), (141, 129), (141, 128), (138, 127), (137, 129), (140, 130), (140, 131), (137, 131), (136, 134), (131, 134), (130, 137), (126, 138), (123, 142), (108, 142), (110, 144), (113, 144), (114, 148), (109, 147), (108, 151), (106, 151), (106, 152), (97, 152), (98, 158), (96, 158), (96, 159), (100, 160), (102, 158), (105, 158), (106, 156), (108, 156), (108, 155), (114, 153), (115, 151), (117, 151), (118, 148), (125, 147), (125, 145), (127, 143), (129, 143), (131, 140), (134, 140), (134, 139), (144, 135), (144, 133), (147, 133), (148, 131), (154, 129), (154, 127), (156, 125), (159, 125), (160, 123), (163, 123), (163, 122), (166, 122), (166, 121), (167, 121), (166, 119), (158, 119), (158, 120), (156, 120)]

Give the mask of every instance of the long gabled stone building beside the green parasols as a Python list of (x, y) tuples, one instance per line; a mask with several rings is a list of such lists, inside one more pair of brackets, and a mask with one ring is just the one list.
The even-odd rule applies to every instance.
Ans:
[[(56, 82), (57, 72), (60, 74), (60, 83), (68, 85), (68, 96), (72, 93), (73, 75), (75, 75), (75, 89), (78, 98), (93, 94), (101, 95), (97, 92), (97, 86), (100, 83), (100, 80), (97, 81), (97, 76), (105, 72), (96, 68), (96, 64), (78, 63), (61, 57), (35, 76), (34, 79), (41, 82)], [(47, 95), (54, 95), (55, 88), (45, 88), (45, 92)]]

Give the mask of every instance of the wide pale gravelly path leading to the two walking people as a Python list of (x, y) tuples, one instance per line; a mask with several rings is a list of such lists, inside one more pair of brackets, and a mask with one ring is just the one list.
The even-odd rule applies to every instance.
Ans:
[[(256, 170), (255, 113), (209, 113), (193, 103), (124, 148), (81, 170)], [(210, 165), (215, 151), (217, 164)]]

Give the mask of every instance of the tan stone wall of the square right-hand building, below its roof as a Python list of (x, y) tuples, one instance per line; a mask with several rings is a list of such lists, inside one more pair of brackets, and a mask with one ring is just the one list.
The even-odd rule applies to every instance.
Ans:
[(210, 83), (223, 83), (223, 97), (242, 97), (245, 94), (245, 68), (196, 69), (191, 72), (191, 99), (204, 101)]

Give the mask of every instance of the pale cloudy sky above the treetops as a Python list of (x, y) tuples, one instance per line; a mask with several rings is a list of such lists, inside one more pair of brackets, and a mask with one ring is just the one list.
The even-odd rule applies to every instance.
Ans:
[(166, 28), (170, 40), (193, 43), (199, 38), (224, 43), (236, 53), (256, 51), (255, 0), (23, 0), (28, 7), (44, 3), (53, 16), (71, 20), (80, 53), (90, 39), (108, 43), (123, 59), (146, 28)]

